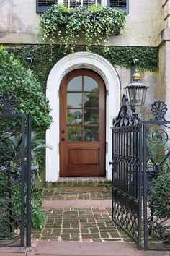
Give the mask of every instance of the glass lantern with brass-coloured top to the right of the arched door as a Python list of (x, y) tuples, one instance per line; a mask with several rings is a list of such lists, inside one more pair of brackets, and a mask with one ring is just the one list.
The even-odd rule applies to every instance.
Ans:
[(132, 76), (130, 85), (125, 87), (128, 95), (128, 104), (129, 106), (144, 106), (148, 85), (143, 84), (140, 74), (138, 74), (138, 59), (133, 59), (133, 63), (135, 64), (135, 73)]

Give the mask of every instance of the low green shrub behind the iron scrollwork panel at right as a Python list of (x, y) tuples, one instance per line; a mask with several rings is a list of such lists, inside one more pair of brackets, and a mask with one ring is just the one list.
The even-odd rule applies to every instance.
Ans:
[(170, 172), (158, 175), (151, 182), (149, 207), (160, 219), (170, 217)]

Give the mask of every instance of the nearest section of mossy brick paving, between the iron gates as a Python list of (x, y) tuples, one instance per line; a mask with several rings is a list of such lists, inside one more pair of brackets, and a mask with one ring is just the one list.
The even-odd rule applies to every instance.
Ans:
[(57, 208), (46, 213), (42, 231), (32, 231), (32, 239), (79, 242), (133, 242), (111, 220), (111, 208)]

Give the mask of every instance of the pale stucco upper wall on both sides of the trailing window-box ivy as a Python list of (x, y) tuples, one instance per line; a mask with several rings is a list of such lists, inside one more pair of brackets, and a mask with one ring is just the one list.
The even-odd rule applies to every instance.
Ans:
[[(162, 28), (160, 0), (130, 0), (123, 35), (110, 39), (118, 46), (156, 46)], [(0, 0), (0, 43), (40, 43), (35, 0)], [(154, 7), (154, 8), (153, 8)]]

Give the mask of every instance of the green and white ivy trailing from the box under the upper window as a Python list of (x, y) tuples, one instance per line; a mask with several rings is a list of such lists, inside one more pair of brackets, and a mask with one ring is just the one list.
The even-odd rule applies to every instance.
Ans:
[[(84, 36), (86, 51), (92, 45), (104, 45), (109, 51), (108, 41), (112, 35), (119, 35), (125, 26), (125, 13), (118, 8), (92, 6), (68, 9), (62, 4), (52, 5), (40, 17), (42, 40), (59, 43), (66, 51), (75, 51), (77, 40)], [(80, 42), (81, 43), (81, 42)]]

